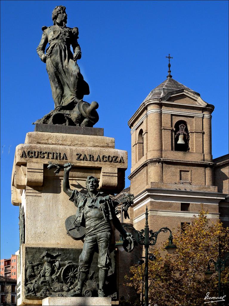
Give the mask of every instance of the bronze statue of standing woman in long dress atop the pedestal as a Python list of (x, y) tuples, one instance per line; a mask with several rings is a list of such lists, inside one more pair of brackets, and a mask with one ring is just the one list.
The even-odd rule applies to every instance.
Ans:
[[(77, 41), (78, 28), (66, 27), (65, 9), (65, 6), (55, 7), (52, 15), (53, 26), (42, 27), (42, 39), (37, 47), (39, 57), (46, 63), (55, 110), (72, 110), (84, 95), (89, 95), (89, 85), (83, 79), (77, 64), (77, 60), (81, 58)], [(49, 47), (45, 54), (47, 43)]]

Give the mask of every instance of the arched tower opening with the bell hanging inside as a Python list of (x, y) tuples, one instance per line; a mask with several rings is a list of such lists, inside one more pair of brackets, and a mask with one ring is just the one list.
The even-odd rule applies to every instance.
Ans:
[(187, 123), (184, 120), (179, 120), (176, 122), (174, 134), (174, 150), (175, 151), (189, 151), (189, 134)]

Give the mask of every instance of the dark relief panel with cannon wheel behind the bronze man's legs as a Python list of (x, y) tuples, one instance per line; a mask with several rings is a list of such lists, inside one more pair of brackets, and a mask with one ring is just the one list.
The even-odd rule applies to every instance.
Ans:
[[(78, 285), (78, 262), (82, 249), (39, 248), (25, 249), (25, 297), (74, 297)], [(106, 295), (117, 298), (115, 250), (110, 253), (111, 267), (104, 290)], [(98, 253), (95, 252), (89, 274), (82, 291), (85, 297), (98, 296), (99, 268)]]

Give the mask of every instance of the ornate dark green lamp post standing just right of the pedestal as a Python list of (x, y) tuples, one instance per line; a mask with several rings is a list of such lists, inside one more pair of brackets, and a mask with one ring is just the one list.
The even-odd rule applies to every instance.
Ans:
[[(145, 259), (145, 302), (144, 305), (148, 306), (149, 305), (149, 300), (148, 300), (148, 260), (154, 260), (155, 256), (151, 253), (149, 253), (149, 246), (156, 244), (157, 242), (157, 237), (159, 233), (167, 233), (168, 231), (170, 232), (169, 235), (169, 243), (165, 247), (166, 251), (169, 254), (172, 254), (175, 249), (176, 245), (173, 244), (173, 235), (171, 230), (168, 227), (162, 227), (160, 230), (157, 232), (153, 232), (152, 230), (149, 230), (148, 226), (148, 208), (146, 207), (146, 224), (145, 224), (145, 229), (144, 230), (135, 230), (135, 228), (131, 225), (125, 226), (127, 229), (132, 229), (136, 235), (137, 235), (137, 242), (138, 244), (144, 245), (145, 247), (145, 256), (141, 257)], [(142, 259), (139, 260), (139, 264), (142, 264), (144, 261)]]

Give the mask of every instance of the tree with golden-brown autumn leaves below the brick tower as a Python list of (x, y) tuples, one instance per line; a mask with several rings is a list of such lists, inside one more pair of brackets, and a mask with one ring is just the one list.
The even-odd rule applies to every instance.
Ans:
[[(177, 249), (173, 255), (161, 252), (161, 248), (153, 251), (156, 259), (149, 261), (149, 304), (157, 306), (185, 306), (204, 305), (206, 293), (218, 296), (218, 273), (210, 279), (205, 277), (208, 260), (217, 260), (228, 255), (228, 228), (217, 220), (209, 225), (208, 212), (202, 209), (198, 217), (195, 216), (192, 225), (184, 224), (182, 229), (174, 234), (173, 242)], [(144, 264), (132, 266), (132, 277), (127, 285), (133, 287), (137, 294), (144, 297)], [(228, 292), (228, 267), (221, 274), (221, 295)], [(227, 298), (227, 297), (226, 297)], [(143, 298), (141, 298), (143, 304)], [(225, 302), (225, 305), (227, 302)], [(140, 304), (139, 304), (140, 305)], [(222, 302), (220, 305), (223, 306)]]

